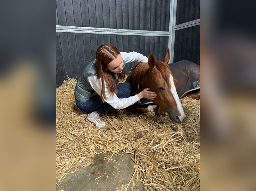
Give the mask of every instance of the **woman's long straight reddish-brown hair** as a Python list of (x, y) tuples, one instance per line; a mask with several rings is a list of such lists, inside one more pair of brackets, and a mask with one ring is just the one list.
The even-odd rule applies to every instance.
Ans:
[(118, 74), (118, 79), (116, 81), (114, 75), (115, 73), (110, 72), (107, 70), (108, 64), (117, 58), (117, 56), (120, 54), (120, 51), (112, 46), (112, 45), (101, 45), (97, 51), (96, 51), (96, 60), (97, 60), (97, 69), (98, 72), (97, 78), (101, 78), (102, 88), (101, 88), (101, 99), (104, 103), (104, 99), (106, 99), (105, 95), (105, 83), (104, 80), (106, 80), (109, 91), (113, 94), (117, 93), (117, 83), (124, 79), (125, 77), (125, 71), (123, 69), (122, 73)]

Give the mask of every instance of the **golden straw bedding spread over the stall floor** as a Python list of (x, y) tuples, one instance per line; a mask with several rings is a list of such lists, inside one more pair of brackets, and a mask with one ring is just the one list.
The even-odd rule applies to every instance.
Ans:
[[(200, 190), (200, 102), (181, 98), (186, 118), (181, 124), (153, 112), (102, 116), (108, 129), (86, 123), (75, 103), (76, 79), (56, 88), (56, 177), (60, 184), (73, 167), (86, 167), (99, 150), (107, 158), (133, 153), (134, 177), (145, 190)], [(131, 179), (131, 181), (133, 181)], [(120, 186), (121, 187), (121, 186)], [(128, 187), (128, 186), (127, 186)]]

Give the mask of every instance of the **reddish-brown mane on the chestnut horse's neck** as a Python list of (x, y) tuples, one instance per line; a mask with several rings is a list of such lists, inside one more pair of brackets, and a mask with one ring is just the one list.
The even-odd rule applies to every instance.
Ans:
[[(135, 65), (134, 69), (128, 75), (126, 82), (132, 83), (134, 87), (134, 92), (140, 92), (143, 89), (147, 88), (148, 82), (151, 80), (149, 75), (151, 68), (148, 63), (138, 63)], [(171, 73), (171, 69), (167, 64), (163, 62), (157, 61), (155, 62), (155, 67), (153, 70), (158, 70), (164, 81), (167, 83), (168, 87), (170, 87), (169, 76)]]

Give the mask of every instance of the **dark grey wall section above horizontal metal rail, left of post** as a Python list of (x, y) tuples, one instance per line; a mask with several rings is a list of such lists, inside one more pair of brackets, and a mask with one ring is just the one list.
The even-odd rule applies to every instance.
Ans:
[(56, 9), (64, 26), (133, 30), (139, 23), (140, 30), (169, 29), (169, 0), (56, 0)]

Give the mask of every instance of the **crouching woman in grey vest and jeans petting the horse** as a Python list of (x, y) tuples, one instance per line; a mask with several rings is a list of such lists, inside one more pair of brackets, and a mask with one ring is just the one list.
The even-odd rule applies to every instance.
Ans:
[(149, 88), (130, 96), (131, 84), (118, 84), (125, 77), (125, 64), (134, 61), (148, 62), (148, 59), (136, 52), (120, 53), (112, 45), (101, 45), (97, 49), (96, 59), (86, 67), (75, 88), (78, 108), (90, 113), (86, 117), (87, 122), (104, 129), (106, 124), (99, 116), (109, 109), (126, 108), (143, 97), (151, 100), (156, 98)]

